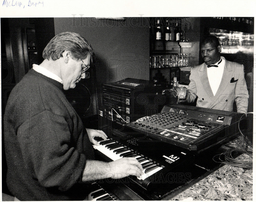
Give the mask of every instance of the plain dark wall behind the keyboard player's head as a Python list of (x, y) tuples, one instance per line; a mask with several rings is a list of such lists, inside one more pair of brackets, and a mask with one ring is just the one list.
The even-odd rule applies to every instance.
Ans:
[(115, 21), (96, 18), (54, 18), (55, 34), (82, 35), (96, 53), (97, 92), (101, 84), (139, 78), (149, 80), (149, 22), (147, 18)]

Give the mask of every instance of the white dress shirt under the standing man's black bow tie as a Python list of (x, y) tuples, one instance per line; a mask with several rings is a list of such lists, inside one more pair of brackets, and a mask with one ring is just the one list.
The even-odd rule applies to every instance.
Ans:
[[(222, 59), (221, 63), (218, 64), (218, 62), (221, 59)], [(215, 63), (215, 65), (218, 64), (218, 67), (207, 67), (207, 76), (208, 76), (209, 84), (211, 86), (211, 91), (214, 96), (218, 91), (218, 88), (220, 86), (220, 82), (222, 79), (223, 71), (224, 71), (225, 58), (221, 57), (221, 59)]]

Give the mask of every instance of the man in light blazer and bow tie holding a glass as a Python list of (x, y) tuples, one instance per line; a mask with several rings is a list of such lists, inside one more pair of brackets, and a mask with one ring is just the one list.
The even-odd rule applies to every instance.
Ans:
[(235, 100), (237, 112), (246, 113), (249, 94), (243, 65), (227, 61), (220, 52), (217, 37), (210, 35), (202, 41), (200, 53), (205, 63), (191, 69), (186, 98), (178, 102), (194, 102), (198, 96), (198, 107), (232, 111)]

